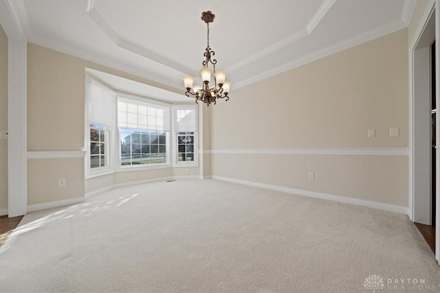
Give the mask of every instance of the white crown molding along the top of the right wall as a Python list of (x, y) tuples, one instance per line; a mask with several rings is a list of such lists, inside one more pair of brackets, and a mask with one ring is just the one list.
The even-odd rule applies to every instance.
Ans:
[(383, 25), (381, 27), (377, 27), (374, 30), (369, 32), (365, 32), (364, 34), (360, 34), (358, 36), (354, 36), (353, 38), (349, 38), (346, 40), (342, 40), (342, 42), (337, 43), (335, 45), (329, 45), (324, 49), (320, 49), (318, 51), (314, 51), (303, 58), (298, 58), (281, 66), (275, 67), (274, 69), (270, 69), (268, 71), (264, 71), (258, 75), (254, 75), (252, 78), (248, 78), (247, 80), (243, 80), (241, 82), (237, 82), (234, 84), (234, 90), (239, 89), (243, 86), (247, 86), (249, 84), (253, 84), (254, 82), (259, 82), (260, 80), (264, 80), (266, 78), (270, 78), (279, 73), (283, 73), (285, 71), (289, 71), (296, 67), (300, 67), (301, 65), (305, 65), (309, 62), (313, 62), (315, 60), (330, 56), (332, 54), (336, 54), (340, 51), (344, 51), (351, 47), (358, 46), (362, 43), (366, 43), (370, 40), (374, 40), (375, 38), (380, 38), (381, 36), (385, 36), (386, 34), (391, 34), (393, 32), (397, 32), (398, 30), (404, 29), (406, 25), (402, 23), (400, 20), (395, 21), (393, 23), (389, 23), (388, 25)]

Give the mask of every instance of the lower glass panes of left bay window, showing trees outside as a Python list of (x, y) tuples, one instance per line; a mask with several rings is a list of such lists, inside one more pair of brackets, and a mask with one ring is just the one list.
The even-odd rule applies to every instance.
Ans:
[(103, 126), (90, 125), (90, 168), (107, 167), (106, 136), (107, 130)]

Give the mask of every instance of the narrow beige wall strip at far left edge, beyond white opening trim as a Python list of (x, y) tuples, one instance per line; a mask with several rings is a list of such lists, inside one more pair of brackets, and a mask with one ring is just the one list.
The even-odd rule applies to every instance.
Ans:
[[(0, 25), (0, 131), (8, 130), (8, 37)], [(0, 139), (0, 215), (8, 209), (8, 140)]]

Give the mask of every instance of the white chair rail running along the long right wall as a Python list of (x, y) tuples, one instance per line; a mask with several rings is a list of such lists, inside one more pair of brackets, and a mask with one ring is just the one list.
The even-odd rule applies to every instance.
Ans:
[(408, 156), (408, 148), (303, 148), (285, 150), (203, 150), (203, 154), (345, 154)]

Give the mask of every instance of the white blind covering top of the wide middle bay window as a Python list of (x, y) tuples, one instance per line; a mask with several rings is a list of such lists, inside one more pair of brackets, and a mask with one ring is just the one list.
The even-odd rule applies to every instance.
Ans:
[(137, 99), (118, 100), (120, 128), (170, 131), (170, 108)]

